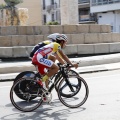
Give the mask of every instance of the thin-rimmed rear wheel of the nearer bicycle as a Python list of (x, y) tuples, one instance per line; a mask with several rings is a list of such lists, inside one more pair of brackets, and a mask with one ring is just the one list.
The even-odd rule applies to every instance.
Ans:
[[(26, 81), (27, 84), (24, 86), (24, 89), (16, 89), (18, 86), (22, 86)], [(43, 102), (41, 95), (42, 88), (37, 81), (25, 78), (21, 78), (15, 82), (10, 90), (10, 100), (13, 106), (24, 112), (30, 112), (37, 109)], [(25, 100), (21, 98), (24, 98)]]

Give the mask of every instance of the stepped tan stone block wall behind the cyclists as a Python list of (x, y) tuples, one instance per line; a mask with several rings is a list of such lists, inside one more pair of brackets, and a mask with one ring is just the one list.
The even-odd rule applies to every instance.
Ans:
[(110, 25), (7, 26), (0, 27), (0, 58), (27, 57), (35, 44), (55, 32), (68, 36), (68, 55), (120, 52), (120, 34), (111, 33)]

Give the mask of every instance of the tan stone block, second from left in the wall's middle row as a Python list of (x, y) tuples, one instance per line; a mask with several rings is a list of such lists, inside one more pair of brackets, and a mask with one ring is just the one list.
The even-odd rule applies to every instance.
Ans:
[(12, 36), (12, 46), (28, 45), (26, 39), (27, 39), (26, 35), (14, 35)]

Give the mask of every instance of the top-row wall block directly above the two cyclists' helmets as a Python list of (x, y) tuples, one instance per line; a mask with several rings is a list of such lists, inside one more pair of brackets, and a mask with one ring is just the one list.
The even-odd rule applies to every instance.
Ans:
[(50, 25), (50, 33), (63, 33), (62, 25)]

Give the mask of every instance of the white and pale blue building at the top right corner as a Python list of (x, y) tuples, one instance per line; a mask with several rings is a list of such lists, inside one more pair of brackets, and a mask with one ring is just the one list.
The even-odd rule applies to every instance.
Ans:
[(110, 24), (112, 32), (120, 33), (120, 0), (91, 0), (90, 12), (98, 24)]

